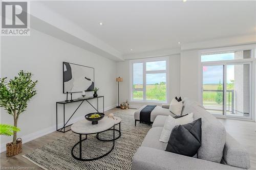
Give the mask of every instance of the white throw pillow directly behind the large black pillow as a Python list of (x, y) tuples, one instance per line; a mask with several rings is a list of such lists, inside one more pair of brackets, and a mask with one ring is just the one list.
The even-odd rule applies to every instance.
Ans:
[(173, 118), (172, 116), (168, 115), (167, 119), (165, 120), (162, 133), (160, 135), (160, 141), (167, 143), (170, 138), (170, 133), (175, 126), (184, 125), (193, 122), (193, 113), (185, 115), (180, 118)]

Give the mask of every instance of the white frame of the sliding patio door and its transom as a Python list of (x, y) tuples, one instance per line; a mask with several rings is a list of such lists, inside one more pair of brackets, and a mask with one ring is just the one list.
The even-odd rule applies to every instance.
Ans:
[[(220, 53), (229, 53), (233, 51), (244, 51), (251, 50), (251, 58), (248, 59), (234, 59), (234, 60), (220, 60), (220, 61), (201, 61), (202, 55), (210, 54), (220, 54)], [(238, 64), (249, 64), (249, 117), (241, 117), (236, 115), (227, 115), (226, 114), (226, 98), (224, 97), (224, 114), (213, 114), (219, 118), (238, 118), (238, 119), (255, 119), (255, 45), (241, 45), (241, 46), (231, 46), (231, 47), (222, 47), (222, 48), (212, 48), (207, 50), (199, 51), (199, 62), (200, 62), (200, 86), (199, 86), (199, 99), (203, 105), (203, 66), (212, 66), (212, 65), (224, 65), (224, 82), (223, 82), (223, 91), (226, 92), (226, 67), (227, 65), (238, 65)]]

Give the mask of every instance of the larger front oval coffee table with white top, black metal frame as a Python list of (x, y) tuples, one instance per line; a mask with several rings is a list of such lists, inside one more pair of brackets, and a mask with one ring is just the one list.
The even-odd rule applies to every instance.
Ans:
[[(115, 120), (110, 117), (102, 118), (101, 120), (99, 120), (99, 123), (96, 125), (92, 125), (92, 122), (90, 122), (86, 119), (83, 119), (83, 120), (80, 120), (80, 121), (74, 123), (71, 126), (71, 130), (74, 133), (79, 134), (79, 141), (74, 145), (74, 147), (71, 150), (71, 155), (73, 156), (73, 158), (80, 160), (80, 161), (92, 161), (92, 160), (100, 159), (100, 158), (108, 155), (109, 153), (111, 153), (111, 151), (114, 149), (114, 146), (115, 146), (115, 123), (116, 123)], [(111, 140), (111, 141), (113, 141), (111, 150), (99, 157), (96, 157), (96, 158), (83, 159), (82, 158), (82, 141), (87, 139), (87, 135), (98, 134), (98, 133), (107, 131), (111, 128), (113, 128), (113, 130), (114, 130), (113, 131), (113, 140)], [(86, 138), (82, 139), (82, 135), (86, 135)], [(73, 150), (76, 147), (76, 145), (78, 145), (78, 144), (79, 144), (79, 157), (76, 157), (73, 153)]]

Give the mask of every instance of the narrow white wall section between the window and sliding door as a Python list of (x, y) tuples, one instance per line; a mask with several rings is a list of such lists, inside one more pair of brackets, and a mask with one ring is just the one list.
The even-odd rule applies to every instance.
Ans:
[(184, 51), (180, 54), (181, 96), (200, 102), (200, 57), (199, 51)]

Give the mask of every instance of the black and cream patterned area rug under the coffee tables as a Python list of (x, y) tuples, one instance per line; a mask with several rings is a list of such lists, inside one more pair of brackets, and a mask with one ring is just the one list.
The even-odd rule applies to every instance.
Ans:
[[(23, 157), (44, 169), (131, 169), (132, 158), (151, 126), (145, 124), (134, 125), (134, 115), (129, 113), (114, 113), (121, 117), (121, 137), (115, 140), (114, 150), (107, 156), (94, 161), (78, 161), (71, 155), (73, 145), (79, 141), (79, 135), (72, 133), (62, 136)], [(100, 123), (100, 122), (99, 122)], [(115, 126), (118, 129), (118, 126)], [(118, 135), (118, 133), (115, 133)], [(82, 158), (88, 159), (106, 153), (112, 148), (112, 141), (102, 142), (96, 139), (96, 134), (88, 135), (82, 143)], [(85, 137), (82, 136), (82, 137)], [(113, 131), (105, 131), (100, 138), (113, 138)], [(78, 157), (79, 148), (74, 149)]]

